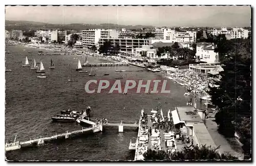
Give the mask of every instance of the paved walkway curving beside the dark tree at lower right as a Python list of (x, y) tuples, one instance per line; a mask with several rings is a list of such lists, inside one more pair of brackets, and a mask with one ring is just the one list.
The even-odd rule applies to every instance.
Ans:
[(228, 143), (227, 139), (225, 138), (225, 136), (223, 136), (222, 134), (220, 134), (218, 132), (218, 125), (216, 122), (214, 122), (215, 118), (208, 118), (205, 122), (205, 126), (207, 128), (207, 130), (209, 131), (212, 139), (214, 140), (216, 146), (221, 146), (219, 149), (219, 152), (221, 153), (225, 153), (225, 152), (229, 152), (230, 154), (237, 156), (239, 150), (233, 150), (230, 146), (230, 144)]

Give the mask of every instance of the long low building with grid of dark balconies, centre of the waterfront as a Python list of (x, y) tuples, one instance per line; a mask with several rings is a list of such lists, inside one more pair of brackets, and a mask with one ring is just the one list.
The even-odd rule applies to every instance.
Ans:
[(103, 45), (105, 41), (110, 41), (112, 45), (119, 44), (120, 51), (133, 53), (136, 48), (142, 45), (148, 45), (148, 39), (120, 39), (120, 38), (100, 38), (98, 41), (99, 46)]

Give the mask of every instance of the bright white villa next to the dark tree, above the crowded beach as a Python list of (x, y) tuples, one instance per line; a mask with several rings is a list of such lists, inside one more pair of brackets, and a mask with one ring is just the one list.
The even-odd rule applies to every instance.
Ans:
[(219, 54), (215, 53), (216, 46), (212, 43), (200, 42), (197, 44), (196, 58), (202, 62), (218, 63)]

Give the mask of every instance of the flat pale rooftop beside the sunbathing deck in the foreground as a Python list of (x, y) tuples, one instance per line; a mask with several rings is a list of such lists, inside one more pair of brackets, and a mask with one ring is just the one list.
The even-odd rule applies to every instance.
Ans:
[(180, 121), (203, 122), (194, 107), (176, 107)]

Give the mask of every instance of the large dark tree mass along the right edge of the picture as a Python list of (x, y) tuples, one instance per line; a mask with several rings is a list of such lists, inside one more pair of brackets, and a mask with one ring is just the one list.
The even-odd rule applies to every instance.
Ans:
[(221, 73), (221, 81), (215, 82), (219, 87), (209, 87), (208, 93), (212, 104), (218, 106), (216, 122), (219, 131), (233, 136), (236, 131), (234, 124), (241, 123), (243, 117), (251, 117), (251, 53), (248, 39), (227, 42), (224, 72)]

